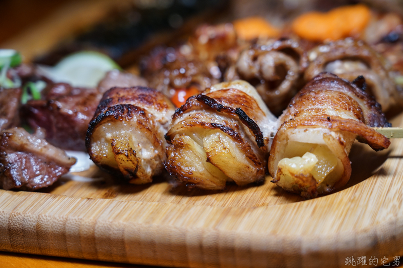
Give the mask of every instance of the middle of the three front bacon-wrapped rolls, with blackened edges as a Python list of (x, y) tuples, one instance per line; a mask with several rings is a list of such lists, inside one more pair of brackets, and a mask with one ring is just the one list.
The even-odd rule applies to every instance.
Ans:
[(246, 81), (216, 84), (175, 112), (165, 168), (179, 182), (208, 190), (263, 180), (275, 122)]

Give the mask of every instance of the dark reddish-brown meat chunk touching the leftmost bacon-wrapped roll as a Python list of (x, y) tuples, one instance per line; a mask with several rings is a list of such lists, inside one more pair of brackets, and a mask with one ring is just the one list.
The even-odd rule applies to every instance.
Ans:
[(46, 130), (46, 140), (69, 150), (85, 150), (88, 123), (101, 95), (95, 88), (74, 88), (66, 83), (45, 88), (42, 100), (23, 106), (24, 119), (32, 128)]

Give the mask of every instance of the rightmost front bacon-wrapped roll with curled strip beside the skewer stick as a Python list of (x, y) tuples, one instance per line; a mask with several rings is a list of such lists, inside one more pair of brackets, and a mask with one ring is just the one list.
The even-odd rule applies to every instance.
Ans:
[[(356, 84), (355, 84), (356, 83)], [(293, 98), (279, 118), (268, 170), (273, 182), (311, 198), (340, 189), (350, 179), (348, 157), (356, 138), (374, 150), (390, 141), (371, 127), (390, 127), (378, 103), (357, 84), (322, 73)]]

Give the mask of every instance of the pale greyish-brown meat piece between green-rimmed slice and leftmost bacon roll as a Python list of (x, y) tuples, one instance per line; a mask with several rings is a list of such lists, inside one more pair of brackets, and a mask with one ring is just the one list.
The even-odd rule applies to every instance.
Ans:
[(147, 86), (146, 79), (118, 70), (108, 71), (105, 77), (98, 83), (98, 91), (104, 94), (112, 87)]

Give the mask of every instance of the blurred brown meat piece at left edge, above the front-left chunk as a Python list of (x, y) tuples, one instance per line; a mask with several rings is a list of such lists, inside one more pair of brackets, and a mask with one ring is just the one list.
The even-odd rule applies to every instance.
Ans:
[(0, 87), (0, 130), (18, 126), (21, 88)]

